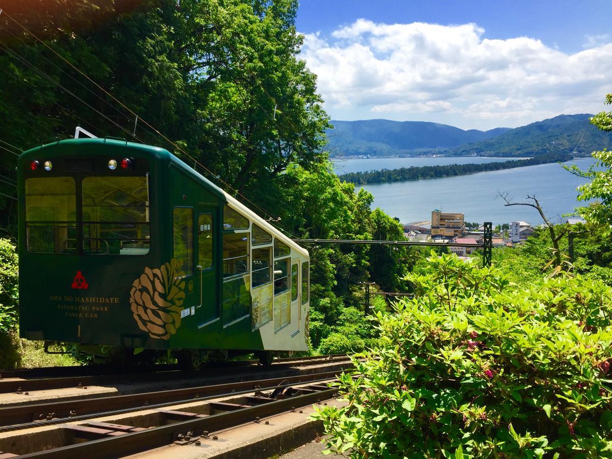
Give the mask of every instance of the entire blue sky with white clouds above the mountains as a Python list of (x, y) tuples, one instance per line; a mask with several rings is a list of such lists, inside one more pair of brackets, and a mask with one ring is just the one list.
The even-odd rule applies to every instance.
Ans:
[(515, 127), (603, 110), (612, 1), (303, 0), (302, 56), (334, 119)]

